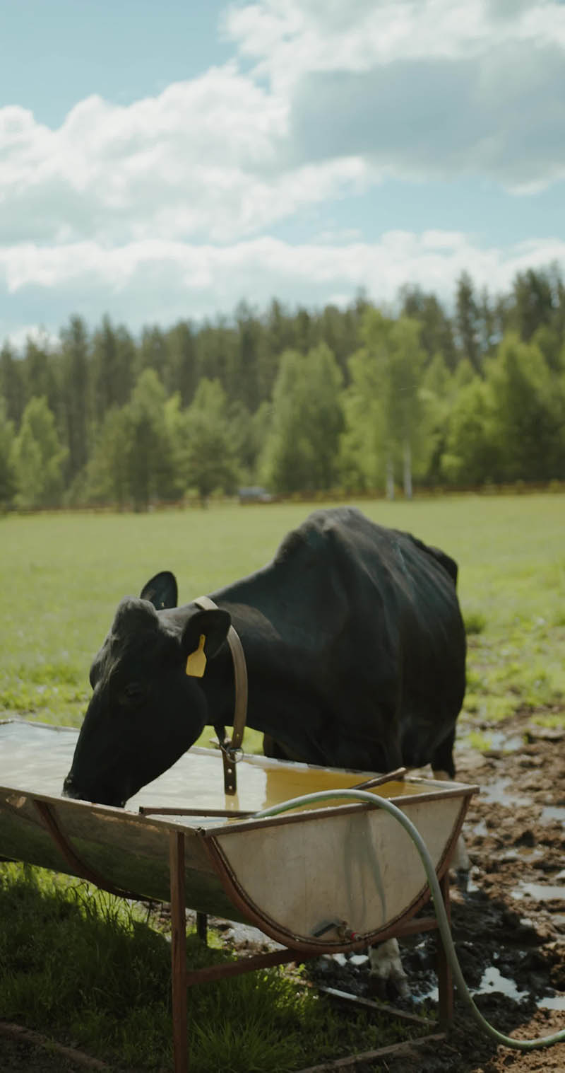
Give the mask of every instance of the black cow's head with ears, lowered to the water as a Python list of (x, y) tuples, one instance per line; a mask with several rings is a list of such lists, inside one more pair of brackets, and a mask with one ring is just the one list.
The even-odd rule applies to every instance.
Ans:
[(165, 771), (209, 721), (206, 696), (187, 668), (225, 641), (227, 612), (177, 612), (174, 574), (157, 574), (139, 599), (125, 597), (90, 668), (93, 693), (63, 793), (123, 806)]

